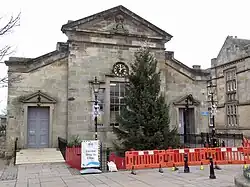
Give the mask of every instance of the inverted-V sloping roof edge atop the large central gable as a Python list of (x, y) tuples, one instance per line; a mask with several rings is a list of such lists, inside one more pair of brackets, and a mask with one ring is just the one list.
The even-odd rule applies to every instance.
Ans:
[(76, 21), (71, 21), (67, 24), (64, 24), (61, 28), (62, 32), (65, 32), (67, 30), (72, 30), (74, 27), (80, 25), (80, 24), (84, 24), (87, 22), (90, 22), (94, 19), (97, 19), (101, 16), (106, 16), (109, 15), (111, 13), (114, 12), (122, 12), (130, 17), (133, 17), (133, 19), (136, 19), (138, 22), (140, 22), (141, 24), (147, 26), (148, 28), (152, 29), (153, 31), (159, 33), (161, 36), (164, 36), (165, 38), (168, 38), (169, 40), (172, 38), (172, 35), (170, 35), (169, 33), (165, 32), (164, 30), (160, 29), (159, 27), (153, 25), (152, 23), (150, 23), (149, 21), (143, 19), (142, 17), (138, 16), (137, 14), (135, 14), (134, 12), (130, 11), (129, 9), (125, 8), (122, 5), (113, 7), (111, 9), (96, 13), (94, 15), (76, 20)]

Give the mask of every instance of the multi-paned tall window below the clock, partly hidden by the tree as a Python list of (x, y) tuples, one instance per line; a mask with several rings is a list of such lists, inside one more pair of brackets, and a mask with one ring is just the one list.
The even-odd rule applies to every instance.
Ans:
[(110, 126), (119, 126), (117, 116), (124, 104), (125, 83), (110, 82)]

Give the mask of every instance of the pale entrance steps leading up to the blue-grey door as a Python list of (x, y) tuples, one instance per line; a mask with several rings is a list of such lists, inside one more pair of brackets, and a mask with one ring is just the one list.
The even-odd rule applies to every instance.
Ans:
[(40, 164), (65, 162), (56, 148), (21, 149), (16, 153), (16, 164)]

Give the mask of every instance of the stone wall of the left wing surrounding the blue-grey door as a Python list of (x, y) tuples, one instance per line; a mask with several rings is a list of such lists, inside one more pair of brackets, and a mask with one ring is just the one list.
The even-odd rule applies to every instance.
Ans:
[[(7, 147), (13, 149), (13, 141), (18, 137), (18, 147), (24, 148), (24, 108), (21, 99), (38, 90), (56, 100), (53, 110), (53, 147), (57, 147), (57, 137), (66, 138), (67, 126), (67, 58), (62, 59), (29, 73), (9, 71), (10, 79), (20, 77), (8, 86)], [(26, 114), (27, 115), (27, 114)]]

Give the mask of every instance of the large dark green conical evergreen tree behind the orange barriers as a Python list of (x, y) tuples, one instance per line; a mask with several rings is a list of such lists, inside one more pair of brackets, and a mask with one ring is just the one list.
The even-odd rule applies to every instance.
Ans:
[(177, 131), (170, 129), (169, 106), (160, 94), (157, 60), (148, 49), (140, 49), (131, 64), (126, 84), (126, 107), (118, 117), (114, 133), (125, 150), (176, 147)]

